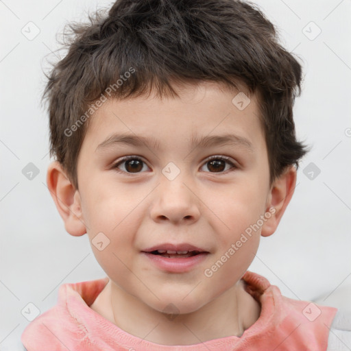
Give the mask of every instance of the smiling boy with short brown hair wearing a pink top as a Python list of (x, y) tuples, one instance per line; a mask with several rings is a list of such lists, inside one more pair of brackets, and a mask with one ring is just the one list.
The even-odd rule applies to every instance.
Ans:
[(47, 184), (108, 277), (62, 285), (25, 348), (334, 350), (337, 308), (247, 271), (307, 152), (274, 26), (235, 0), (119, 0), (90, 21), (45, 90)]

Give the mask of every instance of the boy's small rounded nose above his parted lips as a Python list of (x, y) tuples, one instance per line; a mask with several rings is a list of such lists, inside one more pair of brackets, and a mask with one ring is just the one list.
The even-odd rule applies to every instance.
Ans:
[[(162, 175), (163, 177), (163, 175)], [(154, 191), (151, 217), (156, 222), (194, 223), (199, 219), (201, 200), (195, 186), (186, 184), (178, 175), (174, 180), (165, 177)]]

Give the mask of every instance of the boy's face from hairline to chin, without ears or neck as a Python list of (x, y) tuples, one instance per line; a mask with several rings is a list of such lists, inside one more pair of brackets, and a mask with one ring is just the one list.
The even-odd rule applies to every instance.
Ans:
[[(112, 282), (158, 311), (170, 303), (180, 313), (195, 311), (233, 287), (270, 223), (270, 216), (264, 217), (271, 206), (267, 148), (256, 100), (241, 111), (232, 103), (236, 94), (216, 84), (186, 86), (180, 99), (106, 101), (91, 117), (75, 193), (84, 230)], [(153, 142), (101, 146), (122, 133), (155, 139), (158, 147)], [(193, 137), (225, 134), (247, 142), (189, 146)], [(123, 156), (143, 162), (112, 167)], [(210, 156), (217, 162), (208, 163)], [(250, 225), (256, 225), (251, 236)], [(183, 258), (166, 258), (177, 264), (160, 267), (144, 251), (165, 243), (187, 243), (208, 254), (191, 267), (178, 265)]]

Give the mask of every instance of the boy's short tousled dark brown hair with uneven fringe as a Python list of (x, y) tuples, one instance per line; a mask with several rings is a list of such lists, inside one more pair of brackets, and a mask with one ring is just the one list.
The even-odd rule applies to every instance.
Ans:
[(258, 93), (270, 184), (287, 166), (298, 168), (308, 152), (295, 138), (293, 121), (302, 67), (253, 3), (117, 0), (108, 13), (99, 10), (88, 18), (88, 24), (68, 25), (68, 53), (53, 65), (43, 94), (49, 101), (50, 156), (75, 189), (91, 104), (108, 89), (118, 99), (152, 90), (160, 97), (178, 96), (172, 82), (221, 82), (247, 95)]

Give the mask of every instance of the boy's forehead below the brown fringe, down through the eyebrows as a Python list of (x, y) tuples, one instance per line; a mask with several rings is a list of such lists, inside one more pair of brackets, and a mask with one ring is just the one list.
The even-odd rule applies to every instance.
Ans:
[(173, 141), (189, 149), (230, 144), (254, 152), (259, 146), (263, 131), (256, 95), (216, 83), (184, 84), (177, 93), (108, 99), (90, 118), (85, 139), (94, 152), (114, 145), (161, 149)]

